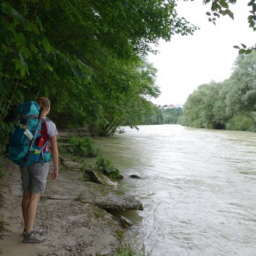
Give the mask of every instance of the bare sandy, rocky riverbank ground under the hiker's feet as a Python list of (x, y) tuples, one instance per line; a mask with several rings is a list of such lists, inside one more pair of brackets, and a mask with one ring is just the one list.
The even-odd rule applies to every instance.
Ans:
[(48, 241), (35, 245), (22, 243), (20, 171), (11, 161), (4, 161), (6, 177), (0, 180), (2, 255), (119, 255), (124, 229), (108, 211), (142, 210), (142, 204), (116, 187), (84, 181), (81, 163), (61, 159), (60, 176), (48, 180), (36, 215), (35, 227), (46, 230)]

